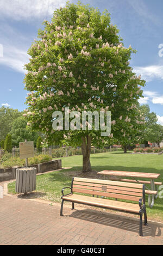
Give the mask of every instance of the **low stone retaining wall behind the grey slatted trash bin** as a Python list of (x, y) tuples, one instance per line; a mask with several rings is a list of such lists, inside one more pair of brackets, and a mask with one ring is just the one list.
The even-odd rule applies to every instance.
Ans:
[[(49, 170), (58, 170), (61, 169), (61, 159), (52, 160), (46, 163), (34, 164), (29, 167), (35, 167), (37, 169), (37, 173), (45, 173)], [(16, 178), (16, 168), (5, 168), (0, 169), (0, 181), (3, 180), (14, 180)]]

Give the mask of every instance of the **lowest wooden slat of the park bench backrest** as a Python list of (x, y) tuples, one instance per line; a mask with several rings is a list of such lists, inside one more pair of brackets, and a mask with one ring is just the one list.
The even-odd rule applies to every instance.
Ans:
[(83, 190), (82, 188), (73, 188), (73, 192), (79, 192), (84, 194), (96, 194), (98, 196), (104, 196), (104, 197), (113, 197), (113, 198), (121, 198), (126, 200), (133, 200), (139, 202), (140, 197), (134, 197), (134, 196), (127, 196), (124, 194), (116, 194), (116, 193), (109, 193), (109, 192), (101, 192), (101, 191), (93, 191), (93, 190)]

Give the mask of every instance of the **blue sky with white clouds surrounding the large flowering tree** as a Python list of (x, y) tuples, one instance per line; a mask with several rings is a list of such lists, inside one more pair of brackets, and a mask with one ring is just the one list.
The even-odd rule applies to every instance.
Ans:
[[(145, 97), (140, 103), (148, 103), (163, 125), (163, 1), (81, 2), (97, 7), (101, 12), (108, 9), (111, 23), (120, 29), (124, 45), (137, 50), (130, 65), (146, 80)], [(12, 0), (11, 4), (11, 0), (0, 0), (0, 106), (20, 111), (26, 108), (23, 65), (29, 61), (28, 48), (37, 38), (42, 21), (51, 21), (54, 9), (64, 7), (65, 3), (65, 0)]]

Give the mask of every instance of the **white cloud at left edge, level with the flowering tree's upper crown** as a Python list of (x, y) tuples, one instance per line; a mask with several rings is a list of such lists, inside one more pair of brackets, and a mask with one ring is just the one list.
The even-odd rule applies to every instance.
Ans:
[(9, 66), (9, 68), (25, 74), (26, 70), (23, 69), (23, 66), (29, 62), (27, 51), (10, 45), (4, 45), (3, 48), (4, 54), (3, 58), (0, 58), (0, 65)]

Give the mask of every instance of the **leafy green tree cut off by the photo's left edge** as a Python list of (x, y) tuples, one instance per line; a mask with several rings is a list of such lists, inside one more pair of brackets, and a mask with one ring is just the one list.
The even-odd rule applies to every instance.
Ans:
[(4, 106), (0, 108), (0, 140), (5, 139), (11, 131), (13, 121), (20, 116), (22, 116), (22, 113), (17, 109)]

